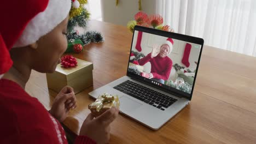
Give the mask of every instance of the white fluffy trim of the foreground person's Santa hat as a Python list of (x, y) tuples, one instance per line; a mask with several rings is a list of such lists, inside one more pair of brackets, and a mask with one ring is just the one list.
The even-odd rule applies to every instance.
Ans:
[(28, 23), (13, 47), (35, 43), (40, 37), (59, 25), (67, 17), (70, 9), (71, 0), (49, 0), (46, 9)]

